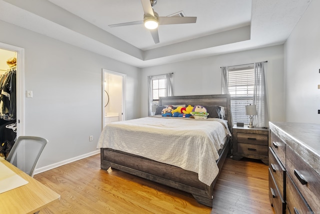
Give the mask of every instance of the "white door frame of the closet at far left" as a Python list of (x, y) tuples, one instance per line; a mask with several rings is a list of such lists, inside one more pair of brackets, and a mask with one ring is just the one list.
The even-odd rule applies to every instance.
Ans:
[(0, 48), (16, 52), (16, 136), (24, 135), (24, 48), (0, 42)]

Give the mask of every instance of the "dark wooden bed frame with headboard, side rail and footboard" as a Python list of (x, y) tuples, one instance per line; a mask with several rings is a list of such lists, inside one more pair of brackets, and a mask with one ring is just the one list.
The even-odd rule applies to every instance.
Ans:
[[(232, 131), (230, 96), (229, 94), (215, 95), (190, 95), (190, 96), (168, 96), (160, 97), (159, 105), (220, 105), (225, 109), (225, 119), (228, 121), (229, 130)], [(216, 161), (221, 169), (227, 153), (231, 148), (231, 139), (228, 137), (222, 149), (218, 151), (219, 159)], [(189, 192), (201, 204), (212, 207), (213, 186), (218, 175), (210, 186), (198, 180), (198, 174), (184, 170), (180, 167), (157, 162), (145, 157), (114, 150), (101, 148), (101, 168), (107, 170), (109, 167), (143, 177), (173, 188)], [(219, 170), (220, 171), (220, 170)]]

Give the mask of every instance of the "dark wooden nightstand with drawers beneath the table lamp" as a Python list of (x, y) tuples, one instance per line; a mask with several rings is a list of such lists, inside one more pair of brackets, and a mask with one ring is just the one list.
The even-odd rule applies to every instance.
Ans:
[(269, 128), (234, 125), (232, 127), (232, 159), (249, 157), (260, 159), (268, 165), (268, 136)]

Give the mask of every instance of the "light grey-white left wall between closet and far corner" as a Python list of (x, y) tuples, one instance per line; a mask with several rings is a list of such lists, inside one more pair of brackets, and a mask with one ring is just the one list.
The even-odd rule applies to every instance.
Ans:
[(25, 135), (49, 140), (37, 168), (96, 151), (102, 68), (127, 74), (126, 119), (140, 116), (139, 68), (3, 21), (0, 29), (0, 42), (24, 48), (25, 90), (33, 91), (25, 98)]

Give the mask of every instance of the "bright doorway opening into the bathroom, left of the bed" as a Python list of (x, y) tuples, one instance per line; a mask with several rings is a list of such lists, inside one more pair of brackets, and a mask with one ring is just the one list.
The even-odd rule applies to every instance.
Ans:
[(123, 73), (102, 69), (102, 124), (125, 118), (124, 97), (125, 77)]

